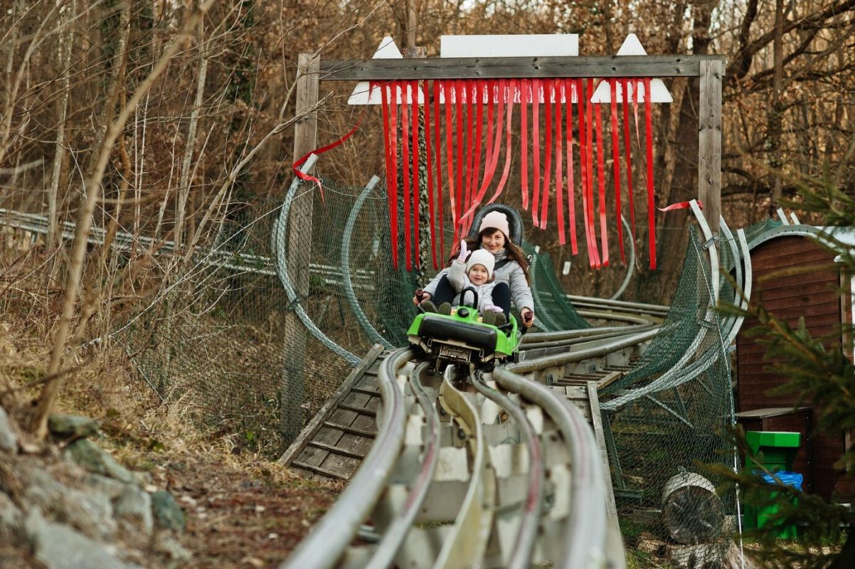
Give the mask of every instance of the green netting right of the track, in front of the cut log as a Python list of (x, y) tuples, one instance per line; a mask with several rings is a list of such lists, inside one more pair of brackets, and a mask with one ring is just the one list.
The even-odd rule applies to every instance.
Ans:
[(668, 316), (634, 368), (600, 391), (600, 407), (624, 536), (720, 560), (735, 500), (716, 496), (722, 481), (705, 465), (734, 466), (734, 403), (714, 278), (691, 228)]

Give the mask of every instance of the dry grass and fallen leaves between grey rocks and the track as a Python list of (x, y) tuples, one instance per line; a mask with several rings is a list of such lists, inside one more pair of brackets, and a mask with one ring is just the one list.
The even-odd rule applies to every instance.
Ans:
[[(51, 323), (0, 314), (0, 379), (17, 389), (3, 404), (26, 413), (38, 394), (24, 386), (50, 360)], [(150, 475), (186, 513), (178, 537), (191, 567), (266, 567), (285, 560), (339, 494), (340, 485), (306, 481), (184, 419), (192, 402), (163, 403), (119, 348), (80, 354), (62, 386), (57, 413), (96, 419), (96, 443), (125, 466)]]

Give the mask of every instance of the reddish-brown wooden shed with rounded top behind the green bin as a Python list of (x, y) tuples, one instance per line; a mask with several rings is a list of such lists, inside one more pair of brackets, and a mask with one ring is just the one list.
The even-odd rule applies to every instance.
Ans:
[[(824, 248), (817, 239), (799, 234), (799, 226), (783, 226), (774, 238), (752, 248), (752, 307), (762, 302), (770, 314), (797, 326), (799, 317), (812, 337), (826, 337), (828, 349), (843, 349), (852, 358), (852, 338), (840, 332), (842, 322), (852, 322), (852, 275), (835, 262), (837, 254)], [(794, 274), (772, 273), (787, 268), (812, 267)], [(765, 279), (768, 278), (768, 279)], [(844, 290), (842, 296), (838, 290)], [(770, 360), (758, 337), (746, 331), (757, 320), (746, 319), (736, 338), (736, 411), (746, 431), (799, 431), (802, 444), (793, 465), (805, 475), (805, 490), (830, 498), (833, 491), (853, 496), (852, 487), (843, 480), (844, 471), (834, 463), (844, 453), (843, 437), (815, 435), (815, 410), (810, 402), (795, 409), (798, 396), (771, 395), (769, 390), (786, 383), (787, 378), (769, 370)]]

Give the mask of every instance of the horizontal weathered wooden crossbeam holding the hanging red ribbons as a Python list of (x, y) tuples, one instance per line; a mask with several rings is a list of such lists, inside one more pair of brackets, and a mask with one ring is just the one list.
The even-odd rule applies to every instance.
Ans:
[(699, 77), (723, 56), (545, 56), (345, 59), (321, 62), (321, 79), (500, 79), (527, 77)]

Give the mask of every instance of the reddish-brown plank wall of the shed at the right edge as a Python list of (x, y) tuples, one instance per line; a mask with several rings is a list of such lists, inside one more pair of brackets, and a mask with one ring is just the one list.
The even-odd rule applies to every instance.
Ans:
[[(825, 265), (827, 268), (762, 280), (781, 269), (818, 265)], [(836, 344), (836, 349), (840, 349), (839, 326), (843, 309), (835, 290), (841, 285), (841, 281), (839, 269), (833, 265), (834, 255), (812, 238), (786, 236), (758, 245), (752, 250), (752, 306), (763, 302), (769, 313), (787, 320), (793, 327), (798, 325), (799, 317), (804, 316), (805, 326), (813, 337), (836, 331), (836, 334), (826, 341), (826, 345), (831, 348)], [(847, 312), (851, 314), (851, 309)], [(847, 314), (846, 320), (851, 318), (850, 314)], [(768, 391), (784, 384), (786, 378), (769, 371), (769, 364), (775, 360), (765, 358), (765, 350), (758, 343), (758, 337), (749, 337), (746, 334), (746, 331), (754, 326), (757, 326), (757, 320), (746, 319), (736, 339), (737, 411), (795, 405), (798, 399), (795, 394), (769, 395)], [(793, 431), (802, 431), (804, 428), (799, 429), (797, 426), (799, 425), (793, 423)], [(843, 438), (819, 435), (813, 437), (811, 443), (814, 490), (825, 498), (830, 497), (835, 489), (849, 494), (848, 485), (838, 484), (842, 472), (833, 466), (843, 454)], [(805, 449), (800, 449), (797, 466), (807, 467), (805, 459)]]

